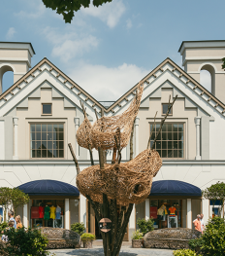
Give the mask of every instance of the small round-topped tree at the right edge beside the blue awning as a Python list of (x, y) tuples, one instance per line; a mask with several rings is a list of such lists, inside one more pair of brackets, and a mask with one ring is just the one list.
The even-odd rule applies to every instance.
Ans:
[(205, 199), (212, 201), (213, 206), (215, 205), (216, 201), (220, 201), (219, 214), (223, 212), (225, 201), (225, 183), (218, 181), (216, 184), (213, 184), (206, 190), (203, 190), (202, 194)]

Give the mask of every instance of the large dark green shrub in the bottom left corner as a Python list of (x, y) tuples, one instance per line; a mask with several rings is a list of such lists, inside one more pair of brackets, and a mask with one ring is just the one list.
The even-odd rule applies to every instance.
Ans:
[(9, 255), (31, 255), (31, 256), (46, 256), (48, 238), (41, 234), (37, 229), (21, 229), (5, 230), (4, 235), (8, 236), (10, 246), (6, 247)]

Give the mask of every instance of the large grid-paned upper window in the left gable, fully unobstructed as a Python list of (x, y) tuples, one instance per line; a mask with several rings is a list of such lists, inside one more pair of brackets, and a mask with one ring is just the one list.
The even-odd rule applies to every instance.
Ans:
[(31, 158), (64, 158), (63, 124), (30, 124)]

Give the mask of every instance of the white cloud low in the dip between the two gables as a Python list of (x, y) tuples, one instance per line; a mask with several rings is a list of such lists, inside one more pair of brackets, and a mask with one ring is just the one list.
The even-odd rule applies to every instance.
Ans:
[(76, 83), (97, 100), (116, 100), (150, 72), (133, 64), (114, 68), (82, 63), (68, 72)]

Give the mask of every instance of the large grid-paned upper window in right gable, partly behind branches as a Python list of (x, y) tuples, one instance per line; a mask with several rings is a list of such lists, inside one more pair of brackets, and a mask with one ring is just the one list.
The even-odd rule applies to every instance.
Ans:
[[(155, 143), (155, 150), (161, 158), (184, 158), (184, 125), (179, 123), (165, 123)], [(160, 128), (160, 124), (150, 124), (152, 130), (151, 145)]]

